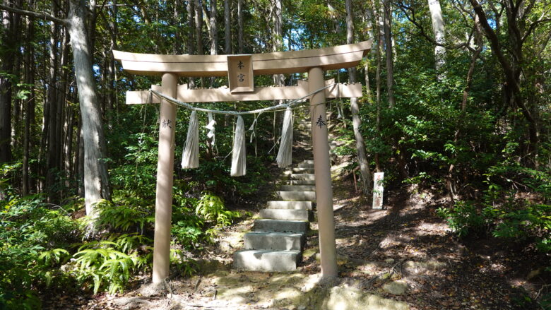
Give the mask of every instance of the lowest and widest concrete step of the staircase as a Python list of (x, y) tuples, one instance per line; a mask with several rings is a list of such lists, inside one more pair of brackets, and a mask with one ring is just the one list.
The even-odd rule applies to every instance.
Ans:
[(297, 270), (300, 251), (241, 250), (233, 256), (233, 268), (285, 273)]

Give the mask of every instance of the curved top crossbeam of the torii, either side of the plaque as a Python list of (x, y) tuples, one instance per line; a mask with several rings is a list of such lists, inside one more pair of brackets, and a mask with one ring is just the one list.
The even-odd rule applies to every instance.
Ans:
[[(307, 72), (321, 67), (324, 71), (357, 66), (371, 49), (372, 41), (355, 44), (306, 49), (291, 52), (252, 54), (253, 73), (282, 74)], [(141, 76), (227, 76), (227, 55), (157, 55), (113, 51), (114, 58), (122, 62), (129, 73)]]

